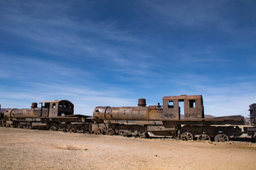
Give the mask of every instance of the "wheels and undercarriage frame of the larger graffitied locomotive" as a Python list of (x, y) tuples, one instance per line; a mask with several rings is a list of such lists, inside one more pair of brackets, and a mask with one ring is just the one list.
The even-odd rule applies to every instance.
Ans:
[(121, 135), (149, 137), (178, 137), (181, 140), (214, 140), (228, 142), (230, 137), (239, 137), (242, 129), (234, 125), (178, 125), (177, 122), (106, 120), (106, 123), (92, 125), (95, 135)]

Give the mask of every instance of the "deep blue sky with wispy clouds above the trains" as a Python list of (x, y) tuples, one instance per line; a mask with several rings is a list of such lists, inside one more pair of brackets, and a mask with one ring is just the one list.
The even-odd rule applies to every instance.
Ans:
[(202, 94), (205, 113), (256, 103), (256, 1), (0, 1), (0, 104), (95, 106)]

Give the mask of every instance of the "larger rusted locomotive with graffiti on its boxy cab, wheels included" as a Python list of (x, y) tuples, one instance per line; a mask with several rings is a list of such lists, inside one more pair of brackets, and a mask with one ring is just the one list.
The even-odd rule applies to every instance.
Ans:
[[(181, 106), (183, 115), (181, 118)], [(231, 136), (242, 135), (238, 125), (245, 125), (241, 115), (204, 118), (203, 97), (165, 96), (163, 105), (146, 106), (146, 99), (140, 98), (136, 107), (98, 106), (93, 113), (97, 123), (92, 127), (95, 134), (119, 134), (146, 137), (180, 137), (181, 140), (228, 141)]]

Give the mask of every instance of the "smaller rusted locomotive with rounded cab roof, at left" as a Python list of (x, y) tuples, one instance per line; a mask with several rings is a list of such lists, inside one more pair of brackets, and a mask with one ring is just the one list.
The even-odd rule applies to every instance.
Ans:
[(70, 101), (55, 100), (32, 103), (31, 108), (9, 109), (4, 112), (4, 126), (14, 128), (41, 128), (69, 132), (90, 131), (92, 122), (87, 115), (74, 115)]

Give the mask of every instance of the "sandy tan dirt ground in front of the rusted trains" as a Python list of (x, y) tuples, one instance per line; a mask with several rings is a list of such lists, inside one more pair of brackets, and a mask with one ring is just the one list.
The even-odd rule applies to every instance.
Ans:
[(256, 144), (0, 128), (0, 169), (256, 169)]

